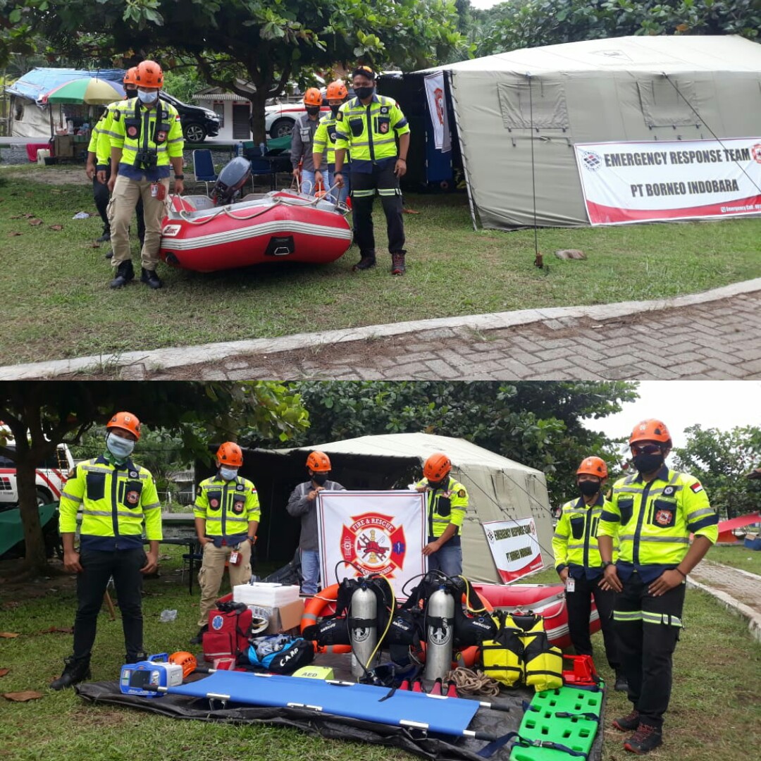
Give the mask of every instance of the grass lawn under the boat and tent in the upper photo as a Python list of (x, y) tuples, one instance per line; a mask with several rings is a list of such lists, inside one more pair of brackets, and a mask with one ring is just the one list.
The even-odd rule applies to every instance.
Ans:
[[(406, 196), (409, 266), (392, 278), (376, 209), (380, 266), (352, 273), (356, 248), (327, 266), (278, 263), (200, 275), (160, 265), (166, 288), (111, 291), (91, 187), (53, 185), (59, 167), (0, 168), (3, 362), (40, 361), (530, 307), (607, 304), (705, 291), (761, 275), (761, 219), (539, 232), (473, 232), (466, 197)], [(65, 178), (65, 175), (58, 175)], [(72, 177), (71, 173), (68, 177)], [(76, 175), (75, 175), (76, 177)], [(68, 180), (71, 183), (71, 180)], [(31, 214), (42, 224), (30, 224)], [(53, 230), (62, 225), (62, 230)], [(14, 235), (21, 233), (21, 235)], [(586, 261), (552, 256), (584, 250)], [(139, 264), (135, 243), (133, 259)]]

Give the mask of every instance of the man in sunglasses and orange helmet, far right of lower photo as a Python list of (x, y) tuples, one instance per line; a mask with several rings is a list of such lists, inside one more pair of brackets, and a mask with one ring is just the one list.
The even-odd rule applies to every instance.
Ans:
[[(613, 727), (634, 731), (624, 748), (642, 754), (663, 742), (685, 581), (715, 543), (718, 516), (698, 479), (664, 463), (671, 437), (663, 422), (635, 425), (629, 447), (636, 473), (613, 485), (597, 537), (605, 581), (619, 593), (613, 621), (634, 706)], [(613, 562), (616, 535), (619, 557)]]

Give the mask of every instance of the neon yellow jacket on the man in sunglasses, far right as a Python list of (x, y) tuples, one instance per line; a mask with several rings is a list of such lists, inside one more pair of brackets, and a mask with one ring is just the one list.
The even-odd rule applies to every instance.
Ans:
[(619, 560), (635, 566), (678, 565), (689, 549), (690, 533), (716, 541), (718, 515), (695, 476), (664, 465), (650, 483), (634, 473), (613, 485), (597, 536), (616, 533)]

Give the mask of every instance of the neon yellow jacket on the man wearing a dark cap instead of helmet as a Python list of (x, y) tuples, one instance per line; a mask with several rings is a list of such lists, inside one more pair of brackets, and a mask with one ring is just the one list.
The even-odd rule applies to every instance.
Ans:
[(407, 132), (409, 124), (402, 110), (385, 95), (374, 94), (367, 106), (354, 97), (342, 104), (336, 116), (336, 148), (352, 152), (352, 172), (396, 158), (396, 137)]

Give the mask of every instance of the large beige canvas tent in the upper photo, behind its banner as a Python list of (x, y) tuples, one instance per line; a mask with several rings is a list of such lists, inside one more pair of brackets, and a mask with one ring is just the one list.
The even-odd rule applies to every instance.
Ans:
[(423, 75), (442, 70), (473, 224), (484, 228), (589, 224), (576, 144), (761, 138), (761, 45), (742, 37), (584, 40), (405, 79), (420, 91)]

